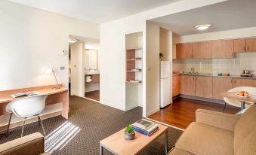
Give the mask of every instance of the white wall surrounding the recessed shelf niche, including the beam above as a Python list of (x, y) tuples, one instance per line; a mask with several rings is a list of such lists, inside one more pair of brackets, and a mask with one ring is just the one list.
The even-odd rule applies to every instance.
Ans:
[[(224, 1), (183, 0), (150, 11), (144, 11), (140, 14), (100, 24), (100, 102), (125, 110), (125, 34), (143, 32), (143, 59), (147, 59), (147, 20)], [(147, 110), (151, 109), (146, 108), (151, 106), (151, 102), (146, 102), (146, 99), (151, 97), (146, 92), (147, 89), (150, 89), (150, 87), (146, 88), (146, 62), (147, 60), (143, 61), (143, 117), (150, 113)], [(159, 74), (152, 76), (159, 76)], [(159, 93), (154, 96), (157, 95), (159, 96)]]

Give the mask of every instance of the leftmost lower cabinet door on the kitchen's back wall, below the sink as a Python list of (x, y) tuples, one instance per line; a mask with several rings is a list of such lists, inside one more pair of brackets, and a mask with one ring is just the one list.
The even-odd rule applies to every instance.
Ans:
[(190, 75), (180, 76), (180, 93), (195, 96), (195, 77)]

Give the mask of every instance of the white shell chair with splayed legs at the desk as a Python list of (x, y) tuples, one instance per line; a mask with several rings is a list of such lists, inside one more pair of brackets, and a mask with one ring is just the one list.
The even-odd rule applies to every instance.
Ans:
[(42, 124), (42, 120), (41, 120), (39, 114), (42, 111), (44, 111), (44, 109), (45, 109), (45, 99), (46, 98), (47, 98), (47, 96), (29, 96), (26, 98), (17, 99), (17, 100), (14, 100), (13, 102), (10, 102), (5, 108), (5, 110), (8, 113), (11, 113), (10, 118), (9, 118), (9, 123), (8, 123), (8, 129), (6, 131), (6, 135), (8, 135), (12, 114), (15, 114), (17, 117), (21, 117), (24, 119), (22, 131), (21, 131), (21, 137), (23, 136), (23, 129), (24, 129), (26, 118), (32, 117), (32, 116), (39, 117), (39, 126), (41, 123), (42, 130), (45, 135), (45, 129), (44, 129), (44, 126)]

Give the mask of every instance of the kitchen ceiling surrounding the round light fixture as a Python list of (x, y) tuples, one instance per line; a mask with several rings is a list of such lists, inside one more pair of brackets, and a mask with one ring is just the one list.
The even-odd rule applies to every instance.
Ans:
[[(176, 35), (254, 27), (256, 26), (256, 0), (229, 0), (150, 21), (159, 23)], [(211, 24), (211, 28), (205, 31), (194, 28), (200, 24)]]

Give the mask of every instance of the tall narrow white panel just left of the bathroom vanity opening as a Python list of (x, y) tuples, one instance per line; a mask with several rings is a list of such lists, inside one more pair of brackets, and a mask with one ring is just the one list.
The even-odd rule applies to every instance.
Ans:
[(71, 45), (71, 95), (85, 96), (85, 43)]

